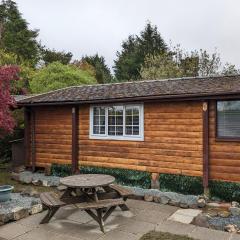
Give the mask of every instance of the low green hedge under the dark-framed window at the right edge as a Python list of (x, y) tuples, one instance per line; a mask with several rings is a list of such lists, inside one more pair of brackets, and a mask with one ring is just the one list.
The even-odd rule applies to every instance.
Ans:
[(210, 181), (209, 189), (211, 196), (225, 201), (240, 202), (240, 183)]

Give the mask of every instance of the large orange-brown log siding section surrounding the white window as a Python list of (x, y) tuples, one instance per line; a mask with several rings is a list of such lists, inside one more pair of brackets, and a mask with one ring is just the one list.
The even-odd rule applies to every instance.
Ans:
[(79, 164), (202, 175), (201, 102), (145, 103), (145, 140), (89, 139), (89, 105), (80, 106)]

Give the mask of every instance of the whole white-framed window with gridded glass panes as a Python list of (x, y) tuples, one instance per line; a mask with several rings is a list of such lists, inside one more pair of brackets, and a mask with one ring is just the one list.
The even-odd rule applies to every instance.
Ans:
[(92, 139), (143, 141), (143, 104), (91, 106), (89, 137)]

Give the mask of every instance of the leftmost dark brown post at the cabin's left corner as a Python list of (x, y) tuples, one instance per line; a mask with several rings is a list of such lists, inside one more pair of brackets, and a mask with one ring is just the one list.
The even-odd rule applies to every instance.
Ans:
[(24, 158), (25, 165), (30, 164), (30, 109), (24, 108)]

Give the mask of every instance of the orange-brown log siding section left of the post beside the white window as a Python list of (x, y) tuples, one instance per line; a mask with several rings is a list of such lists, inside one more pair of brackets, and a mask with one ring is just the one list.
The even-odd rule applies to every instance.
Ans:
[(71, 107), (37, 107), (35, 112), (36, 166), (71, 164)]

